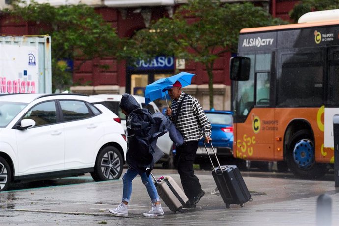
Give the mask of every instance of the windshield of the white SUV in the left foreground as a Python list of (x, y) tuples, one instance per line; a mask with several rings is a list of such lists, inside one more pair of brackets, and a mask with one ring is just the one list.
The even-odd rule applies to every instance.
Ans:
[(0, 127), (6, 127), (26, 105), (26, 103), (0, 101)]

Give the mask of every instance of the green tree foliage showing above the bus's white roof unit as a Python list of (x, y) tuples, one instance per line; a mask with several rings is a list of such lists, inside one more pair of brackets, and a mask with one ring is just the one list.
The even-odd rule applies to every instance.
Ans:
[(298, 19), (305, 13), (338, 8), (339, 0), (302, 0), (293, 7), (289, 15), (290, 18), (297, 23)]

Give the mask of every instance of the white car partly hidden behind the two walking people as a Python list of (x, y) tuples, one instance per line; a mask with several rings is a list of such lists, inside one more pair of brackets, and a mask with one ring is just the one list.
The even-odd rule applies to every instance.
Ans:
[[(122, 95), (120, 94), (98, 94), (92, 95), (90, 97), (96, 97), (104, 100), (103, 105), (105, 105), (112, 112), (116, 113), (121, 118), (121, 124), (124, 126), (126, 132), (126, 117), (121, 112), (119, 103)], [(141, 108), (147, 108), (152, 114), (160, 112), (159, 108), (154, 102), (145, 104), (145, 98), (142, 96), (133, 95), (133, 97), (138, 101)], [(169, 138), (169, 133), (164, 134), (158, 138), (157, 146), (164, 152), (164, 157), (159, 161), (162, 163), (164, 168), (173, 169), (174, 168), (174, 154), (173, 154), (173, 141)]]

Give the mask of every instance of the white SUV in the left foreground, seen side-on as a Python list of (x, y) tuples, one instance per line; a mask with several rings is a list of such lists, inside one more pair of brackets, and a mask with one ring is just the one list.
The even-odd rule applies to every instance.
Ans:
[(95, 181), (118, 179), (126, 135), (101, 103), (74, 94), (0, 95), (0, 191), (87, 172)]

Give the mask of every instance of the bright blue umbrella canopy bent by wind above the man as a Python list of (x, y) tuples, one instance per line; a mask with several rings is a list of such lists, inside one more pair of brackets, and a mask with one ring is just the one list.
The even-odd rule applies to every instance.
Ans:
[(188, 72), (180, 72), (179, 74), (167, 78), (158, 79), (157, 81), (147, 85), (145, 90), (146, 104), (156, 99), (167, 98), (167, 89), (171, 88), (176, 81), (179, 81), (182, 87), (191, 85), (191, 80), (194, 75), (195, 74)]

